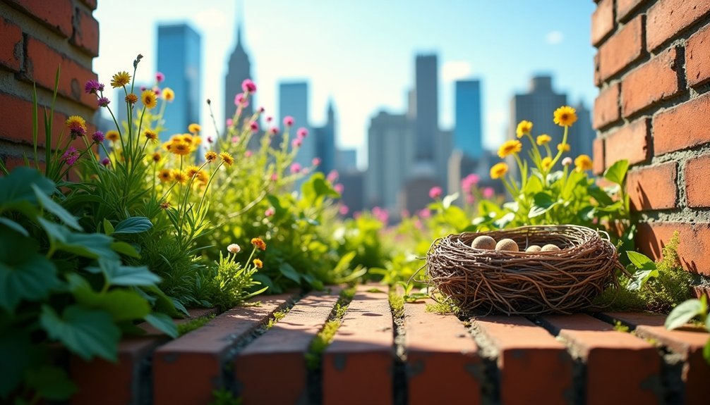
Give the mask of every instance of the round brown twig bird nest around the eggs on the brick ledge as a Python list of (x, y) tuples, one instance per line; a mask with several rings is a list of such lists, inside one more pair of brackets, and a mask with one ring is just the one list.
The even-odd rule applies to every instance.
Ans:
[[(472, 248), (481, 235), (513, 239), (520, 251)], [(569, 314), (591, 307), (605, 287), (618, 287), (616, 270), (623, 267), (605, 236), (576, 225), (453, 234), (430, 246), (427, 276), (433, 291), (462, 311)], [(560, 250), (525, 252), (533, 244), (555, 244)]]

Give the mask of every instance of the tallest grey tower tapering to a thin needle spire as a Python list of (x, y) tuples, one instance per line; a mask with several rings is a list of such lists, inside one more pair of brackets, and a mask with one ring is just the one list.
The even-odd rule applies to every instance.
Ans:
[[(242, 92), (241, 82), (245, 79), (253, 79), (251, 76), (251, 62), (249, 62), (249, 55), (247, 55), (244, 49), (244, 43), (242, 41), (241, 35), (241, 16), (236, 16), (236, 47), (234, 51), (231, 52), (229, 57), (229, 64), (227, 67), (227, 74), (224, 78), (224, 119), (229, 119), (234, 117), (236, 112), (236, 105), (234, 104), (234, 97)], [(253, 95), (250, 96), (249, 105), (242, 110), (241, 118), (250, 117), (253, 113)]]

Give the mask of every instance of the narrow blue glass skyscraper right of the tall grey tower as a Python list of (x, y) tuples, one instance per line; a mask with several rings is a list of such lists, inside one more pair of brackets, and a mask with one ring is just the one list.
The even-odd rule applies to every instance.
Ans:
[(455, 91), (454, 149), (460, 150), (469, 159), (481, 159), (484, 153), (481, 128), (481, 82), (457, 80)]

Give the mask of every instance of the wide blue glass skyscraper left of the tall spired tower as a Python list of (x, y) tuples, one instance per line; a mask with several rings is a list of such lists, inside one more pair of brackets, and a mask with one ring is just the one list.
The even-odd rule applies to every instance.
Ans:
[(175, 100), (165, 109), (165, 131), (161, 140), (187, 125), (200, 122), (200, 76), (202, 44), (200, 34), (186, 23), (158, 26), (158, 72), (165, 74), (163, 87), (175, 91)]

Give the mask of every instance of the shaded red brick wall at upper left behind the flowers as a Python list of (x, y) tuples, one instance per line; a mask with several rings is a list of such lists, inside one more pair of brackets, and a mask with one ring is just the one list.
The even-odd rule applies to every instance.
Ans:
[[(97, 104), (84, 93), (84, 83), (97, 77), (92, 72), (99, 55), (96, 7), (96, 0), (0, 0), (0, 159), (9, 167), (21, 164), (24, 153), (31, 156), (32, 85), (39, 104), (51, 105), (58, 67), (55, 139), (68, 115), (92, 120)], [(42, 130), (38, 137), (44, 146)]]

